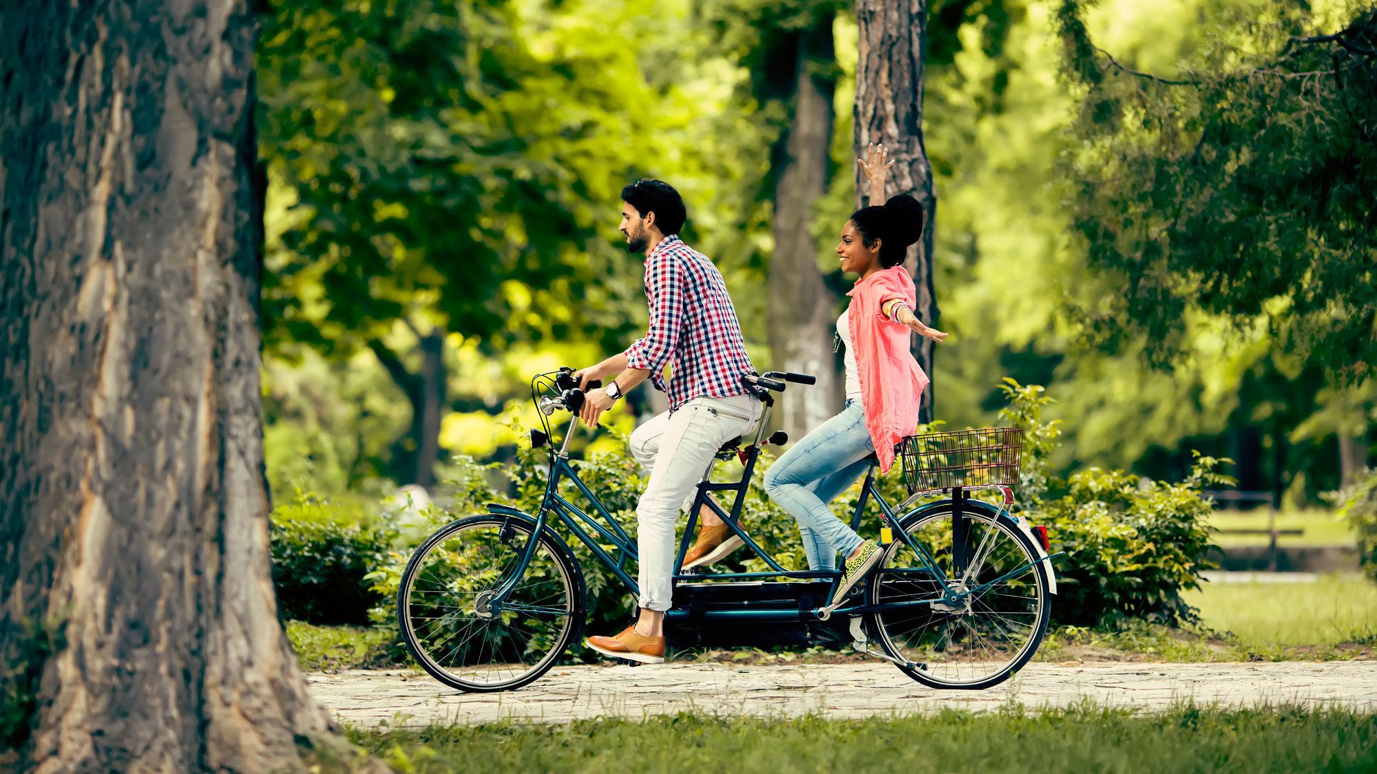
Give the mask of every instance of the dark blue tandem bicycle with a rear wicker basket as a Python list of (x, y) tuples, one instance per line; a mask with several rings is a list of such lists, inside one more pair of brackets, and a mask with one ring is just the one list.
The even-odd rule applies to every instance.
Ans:
[[(865, 508), (877, 508), (883, 559), (832, 603), (840, 570), (786, 569), (738, 523), (761, 450), (788, 442), (782, 431), (766, 437), (775, 395), (789, 383), (815, 379), (768, 372), (742, 380), (763, 412), (749, 442), (734, 438), (717, 453), (717, 460), (741, 460), (739, 481), (713, 482), (709, 466), (698, 483), (675, 559), (673, 607), (665, 620), (672, 643), (712, 628), (782, 632), (828, 625), (856, 651), (935, 689), (986, 689), (1033, 657), (1051, 617), (1052, 559), (1059, 554), (1048, 552), (1045, 527), (1012, 511), (1020, 430), (905, 438), (898, 456), (909, 497), (898, 504), (881, 496), (872, 456), (851, 525), (859, 529)], [(485, 514), (450, 522), (421, 543), (401, 577), (397, 614), (406, 647), (431, 676), (464, 691), (526, 686), (581, 642), (587, 584), (556, 525), (587, 545), (627, 592), (635, 598), (639, 591), (627, 569), (636, 561), (635, 538), (580, 479), (569, 456), (584, 399), (573, 370), (540, 373), (530, 384), (541, 423), (530, 439), (549, 449), (540, 508), (526, 514), (490, 503)], [(573, 415), (558, 443), (551, 430), (556, 412)], [(996, 501), (972, 497), (978, 492)], [(730, 497), (730, 507), (719, 497)], [(702, 505), (768, 569), (683, 570)]]

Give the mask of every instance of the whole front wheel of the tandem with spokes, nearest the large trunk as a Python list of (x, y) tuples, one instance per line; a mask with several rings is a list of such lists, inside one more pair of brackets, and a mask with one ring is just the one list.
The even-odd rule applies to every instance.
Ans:
[(471, 516), (441, 527), (402, 572), (397, 617), (416, 662), (465, 691), (519, 689), (544, 675), (584, 625), (584, 578), (552, 534), (501, 602), (534, 523), (521, 516)]

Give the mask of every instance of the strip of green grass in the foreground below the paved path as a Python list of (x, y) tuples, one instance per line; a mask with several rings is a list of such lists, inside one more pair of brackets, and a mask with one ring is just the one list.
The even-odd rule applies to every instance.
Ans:
[[(1080, 707), (833, 720), (603, 719), (569, 726), (350, 727), (397, 771), (1374, 771), (1377, 718), (1337, 709), (1140, 715)], [(326, 770), (350, 766), (328, 762)], [(332, 766), (333, 763), (333, 766)]]

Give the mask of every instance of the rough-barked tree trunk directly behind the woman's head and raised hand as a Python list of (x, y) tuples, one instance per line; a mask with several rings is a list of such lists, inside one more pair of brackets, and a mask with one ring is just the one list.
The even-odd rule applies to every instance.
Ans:
[[(856, 158), (866, 143), (883, 142), (895, 161), (890, 196), (909, 194), (923, 205), (923, 238), (909, 251), (906, 266), (918, 288), (918, 317), (938, 328), (938, 299), (932, 282), (932, 233), (936, 196), (932, 167), (923, 145), (923, 56), (927, 54), (927, 0), (856, 0), (861, 58), (856, 62), (856, 103), (852, 140)], [(856, 175), (856, 207), (869, 186)], [(913, 357), (932, 377), (932, 342), (913, 336)], [(918, 412), (932, 421), (934, 387)]]

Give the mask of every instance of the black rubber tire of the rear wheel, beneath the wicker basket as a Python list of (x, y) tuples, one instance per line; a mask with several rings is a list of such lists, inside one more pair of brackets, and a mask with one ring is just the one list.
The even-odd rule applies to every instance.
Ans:
[[(917, 527), (931, 522), (932, 519), (946, 518), (950, 521), (952, 511), (953, 511), (952, 504), (945, 503), (943, 505), (939, 505), (938, 508), (934, 508), (931, 511), (925, 511), (923, 514), (914, 514), (905, 518), (901, 522), (901, 529), (912, 533), (917, 530)], [(971, 519), (980, 519), (989, 522), (996, 529), (1001, 530), (1004, 534), (1011, 536), (1016, 541), (1016, 544), (1026, 552), (1027, 558), (1030, 559), (1040, 558), (1037, 548), (1033, 545), (1027, 534), (1024, 534), (1023, 530), (1019, 529), (1007, 515), (1004, 514), (994, 515), (983, 510), (974, 510), (969, 505), (965, 508), (964, 515)], [(905, 547), (906, 545), (903, 544), (902, 540), (895, 540), (894, 543), (891, 543), (885, 548), (885, 556), (880, 561), (877, 569), (887, 567), (891, 559)], [(1048, 583), (1047, 567), (1042, 562), (1037, 562), (1036, 565), (1033, 565), (1030, 572), (1033, 578), (1036, 578), (1034, 583), (1040, 599), (1036, 623), (1031, 627), (1027, 643), (1018, 651), (1018, 654), (1012, 660), (1005, 662), (1004, 667), (1000, 668), (996, 673), (974, 680), (949, 680), (929, 672), (927, 665), (924, 665), (924, 668), (912, 668), (902, 664), (895, 664), (895, 667), (898, 667), (899, 671), (909, 675), (914, 680), (928, 687), (942, 689), (942, 690), (983, 690), (1008, 680), (1019, 669), (1022, 669), (1023, 665), (1029, 662), (1029, 660), (1033, 658), (1033, 654), (1037, 653), (1038, 646), (1041, 646), (1042, 643), (1042, 638), (1047, 635), (1048, 621), (1051, 620), (1052, 616), (1051, 584)], [(870, 605), (881, 603), (883, 587), (881, 583), (879, 581), (879, 577), (880, 577), (879, 574), (872, 574), (870, 583), (868, 584), (866, 588), (866, 599), (868, 603)], [(910, 661), (910, 657), (903, 653), (903, 649), (901, 649), (892, 640), (883, 611), (872, 613), (868, 617), (868, 620), (870, 624), (870, 631), (873, 632), (872, 636), (874, 639), (879, 639), (880, 647), (887, 654), (890, 654), (894, 658), (898, 658), (899, 661), (905, 662)]]

